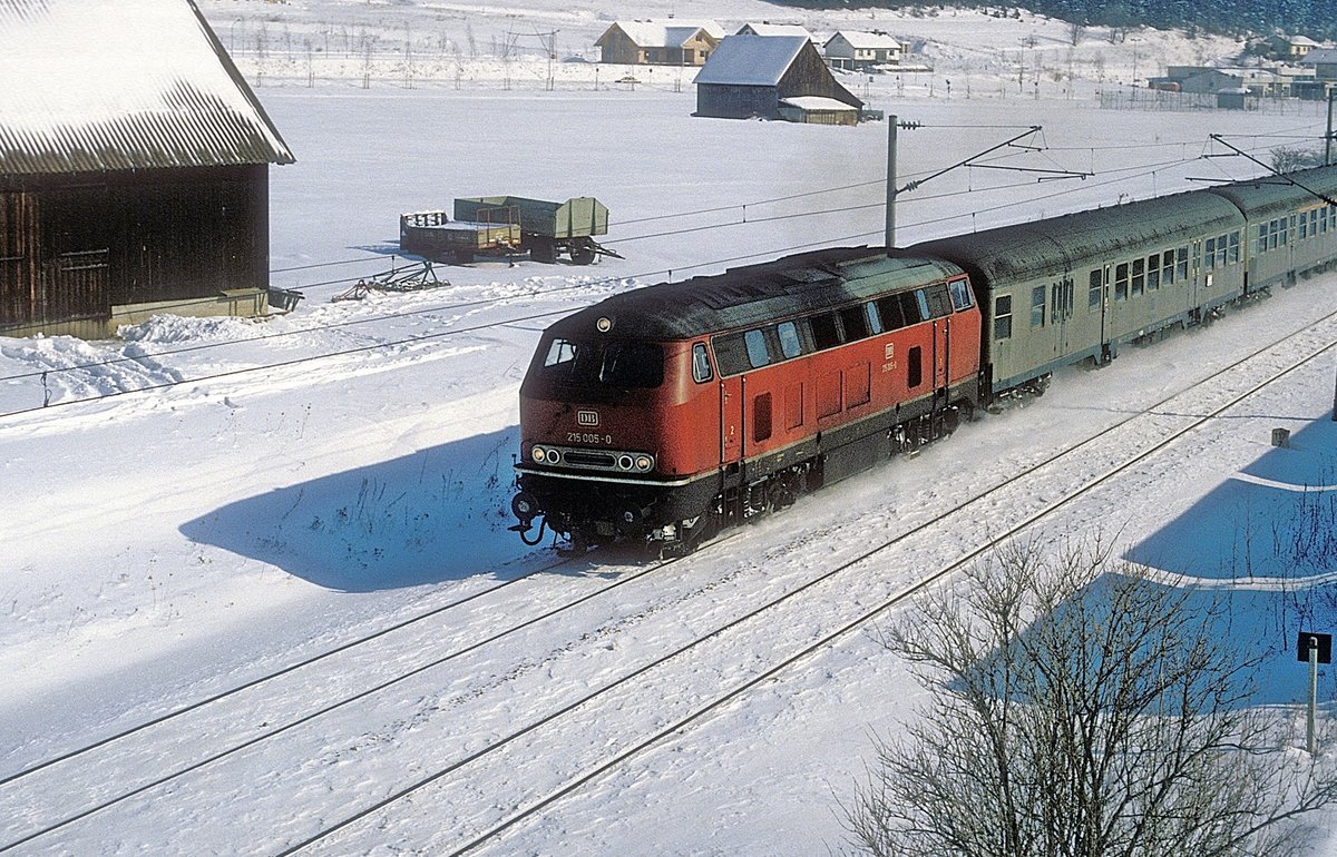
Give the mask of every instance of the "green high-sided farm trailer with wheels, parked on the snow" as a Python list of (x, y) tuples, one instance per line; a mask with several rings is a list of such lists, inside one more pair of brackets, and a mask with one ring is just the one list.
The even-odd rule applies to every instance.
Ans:
[(590, 264), (600, 255), (618, 256), (594, 240), (608, 232), (608, 207), (592, 196), (575, 196), (564, 203), (524, 196), (456, 199), (455, 219), (519, 223), (520, 246), (535, 262), (568, 256), (575, 264)]

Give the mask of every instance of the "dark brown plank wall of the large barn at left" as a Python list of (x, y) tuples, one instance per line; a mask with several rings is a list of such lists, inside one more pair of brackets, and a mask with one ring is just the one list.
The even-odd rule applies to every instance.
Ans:
[(0, 332), (266, 288), (267, 210), (266, 166), (0, 180)]

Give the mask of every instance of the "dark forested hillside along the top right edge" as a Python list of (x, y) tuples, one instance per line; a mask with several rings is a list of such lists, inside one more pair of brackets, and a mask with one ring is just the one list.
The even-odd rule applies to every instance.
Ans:
[[(779, 5), (808, 9), (849, 9), (852, 7), (878, 9), (923, 8), (923, 3), (900, 0), (773, 0)], [(960, 8), (996, 9), (1009, 13), (1021, 8), (1039, 15), (1058, 17), (1076, 24), (1098, 27), (1147, 25), (1158, 29), (1182, 28), (1193, 33), (1205, 31), (1231, 36), (1267, 35), (1281, 29), (1289, 35), (1310, 39), (1337, 39), (1337, 16), (1330, 3), (1312, 0), (1029, 0), (1019, 5), (997, 3), (953, 3)]]

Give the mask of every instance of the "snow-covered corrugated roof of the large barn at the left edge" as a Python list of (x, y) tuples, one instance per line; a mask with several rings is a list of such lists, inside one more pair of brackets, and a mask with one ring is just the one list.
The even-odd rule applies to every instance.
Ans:
[(0, 0), (0, 175), (293, 160), (193, 0)]

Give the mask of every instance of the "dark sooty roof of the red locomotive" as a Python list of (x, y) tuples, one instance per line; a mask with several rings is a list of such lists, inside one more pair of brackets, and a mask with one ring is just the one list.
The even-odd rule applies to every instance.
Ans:
[(818, 312), (957, 274), (960, 268), (940, 259), (888, 258), (870, 247), (818, 250), (614, 295), (550, 330), (588, 335), (607, 318), (618, 336), (690, 339)]

